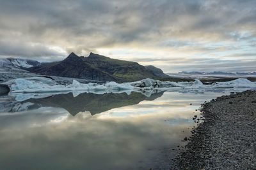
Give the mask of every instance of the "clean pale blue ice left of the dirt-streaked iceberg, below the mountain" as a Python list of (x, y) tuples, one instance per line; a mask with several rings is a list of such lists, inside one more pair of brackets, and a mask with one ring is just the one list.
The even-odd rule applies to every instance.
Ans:
[[(15, 93), (52, 93), (52, 92), (72, 92), (72, 91), (125, 91), (134, 89), (129, 83), (107, 82), (104, 84), (98, 83), (79, 83), (76, 80), (70, 85), (56, 84), (54, 80), (44, 77), (33, 78), (17, 78), (5, 83), (10, 88), (12, 94)], [(103, 94), (99, 92), (99, 94)]]

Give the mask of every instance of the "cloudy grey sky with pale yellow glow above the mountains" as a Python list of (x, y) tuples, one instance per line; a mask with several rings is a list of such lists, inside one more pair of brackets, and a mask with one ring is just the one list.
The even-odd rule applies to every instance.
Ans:
[(0, 0), (0, 57), (90, 52), (179, 71), (256, 71), (255, 0)]

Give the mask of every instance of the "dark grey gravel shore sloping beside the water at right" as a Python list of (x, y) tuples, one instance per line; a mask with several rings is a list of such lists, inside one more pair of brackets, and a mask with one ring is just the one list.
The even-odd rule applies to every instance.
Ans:
[(201, 111), (205, 120), (172, 169), (256, 169), (256, 91), (218, 97)]

